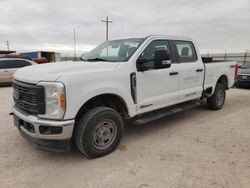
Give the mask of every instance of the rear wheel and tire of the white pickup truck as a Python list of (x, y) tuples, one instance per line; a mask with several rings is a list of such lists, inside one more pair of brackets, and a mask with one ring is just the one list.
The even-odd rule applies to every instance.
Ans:
[(226, 89), (221, 83), (215, 86), (214, 94), (207, 98), (207, 105), (209, 109), (219, 110), (223, 107), (226, 99)]

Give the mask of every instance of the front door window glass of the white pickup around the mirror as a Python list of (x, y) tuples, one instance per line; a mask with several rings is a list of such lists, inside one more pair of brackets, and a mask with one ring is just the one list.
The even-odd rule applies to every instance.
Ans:
[(151, 42), (146, 49), (142, 52), (139, 56), (139, 59), (143, 59), (145, 65), (148, 69), (154, 69), (154, 55), (156, 50), (166, 50), (169, 54), (170, 52), (170, 45), (166, 40), (155, 40)]

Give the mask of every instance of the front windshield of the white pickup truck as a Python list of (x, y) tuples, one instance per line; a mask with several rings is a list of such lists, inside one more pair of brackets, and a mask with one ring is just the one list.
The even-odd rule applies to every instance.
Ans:
[(105, 41), (83, 56), (82, 60), (111, 62), (128, 61), (143, 41), (143, 38)]

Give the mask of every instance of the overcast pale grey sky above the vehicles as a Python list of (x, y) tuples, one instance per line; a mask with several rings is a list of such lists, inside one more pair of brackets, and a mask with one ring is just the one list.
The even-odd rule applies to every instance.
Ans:
[(202, 53), (250, 50), (250, 0), (0, 0), (0, 50), (74, 52), (109, 39), (177, 35)]

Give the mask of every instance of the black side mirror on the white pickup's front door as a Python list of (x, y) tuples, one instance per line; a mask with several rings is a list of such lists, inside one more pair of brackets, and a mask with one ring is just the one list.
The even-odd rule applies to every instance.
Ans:
[(156, 50), (154, 56), (154, 68), (162, 69), (171, 67), (171, 54), (167, 50)]

